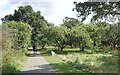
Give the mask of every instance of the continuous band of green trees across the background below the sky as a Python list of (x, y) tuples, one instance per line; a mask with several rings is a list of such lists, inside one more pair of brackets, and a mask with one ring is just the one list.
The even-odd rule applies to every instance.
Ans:
[(17, 49), (34, 45), (41, 45), (44, 49), (45, 45), (52, 45), (63, 52), (67, 45), (79, 47), (82, 51), (101, 46), (110, 46), (116, 50), (120, 46), (120, 23), (99, 21), (84, 24), (78, 19), (65, 17), (63, 24), (55, 26), (47, 22), (40, 11), (34, 12), (31, 6), (20, 6), (13, 15), (6, 15), (1, 20), (3, 26), (14, 30)]

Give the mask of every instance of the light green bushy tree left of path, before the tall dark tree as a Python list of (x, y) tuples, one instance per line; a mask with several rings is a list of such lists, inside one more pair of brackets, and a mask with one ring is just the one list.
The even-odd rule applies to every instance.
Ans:
[(14, 29), (14, 45), (18, 48), (28, 48), (31, 42), (31, 28), (23, 22), (10, 21), (5, 23), (9, 28)]

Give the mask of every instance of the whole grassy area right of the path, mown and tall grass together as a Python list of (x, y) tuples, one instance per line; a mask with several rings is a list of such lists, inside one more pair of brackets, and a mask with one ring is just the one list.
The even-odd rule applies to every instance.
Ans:
[[(51, 50), (56, 55), (51, 56)], [(40, 50), (47, 62), (59, 73), (118, 73), (118, 52), (66, 48), (63, 54), (55, 48)]]

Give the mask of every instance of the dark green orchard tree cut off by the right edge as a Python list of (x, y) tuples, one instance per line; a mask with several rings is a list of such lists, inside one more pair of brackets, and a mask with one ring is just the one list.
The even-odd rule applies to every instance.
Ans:
[(120, 24), (111, 24), (106, 30), (106, 37), (108, 44), (116, 50), (120, 43)]

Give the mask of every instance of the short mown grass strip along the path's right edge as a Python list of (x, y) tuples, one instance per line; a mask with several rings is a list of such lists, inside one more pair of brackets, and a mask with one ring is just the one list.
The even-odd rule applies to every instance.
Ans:
[[(52, 50), (55, 50), (54, 48)], [(59, 52), (59, 51), (58, 51)], [(67, 62), (63, 62), (57, 56), (51, 56), (51, 49), (40, 50), (40, 53), (45, 57), (45, 59), (50, 63), (50, 65), (59, 73), (83, 73), (77, 70), (72, 65)]]

